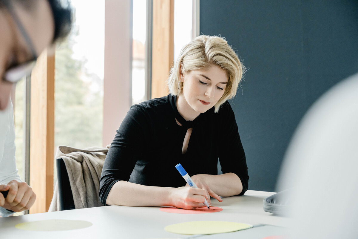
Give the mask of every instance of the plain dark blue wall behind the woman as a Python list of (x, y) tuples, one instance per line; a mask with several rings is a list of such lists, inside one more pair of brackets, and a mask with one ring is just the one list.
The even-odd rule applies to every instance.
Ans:
[(358, 1), (201, 0), (200, 32), (225, 37), (248, 68), (231, 105), (249, 189), (274, 191), (306, 110), (358, 72)]

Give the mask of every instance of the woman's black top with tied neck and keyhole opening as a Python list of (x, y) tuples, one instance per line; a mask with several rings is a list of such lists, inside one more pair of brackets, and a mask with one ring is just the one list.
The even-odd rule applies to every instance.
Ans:
[[(193, 131), (183, 154), (188, 128)], [(187, 182), (175, 168), (178, 163), (189, 176), (217, 175), (218, 159), (223, 173), (240, 177), (243, 190), (239, 196), (243, 195), (249, 178), (246, 157), (228, 101), (218, 113), (212, 107), (193, 121), (186, 121), (179, 114), (173, 95), (133, 105), (117, 130), (103, 165), (101, 202), (106, 205), (108, 193), (120, 180), (147, 186), (185, 186)]]

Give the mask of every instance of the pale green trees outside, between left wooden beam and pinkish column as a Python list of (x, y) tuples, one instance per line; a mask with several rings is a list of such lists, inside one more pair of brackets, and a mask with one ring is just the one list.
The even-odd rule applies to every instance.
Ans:
[[(102, 146), (102, 80), (73, 58), (73, 38), (55, 55), (55, 146)], [(89, 79), (89, 80), (88, 80)], [(95, 91), (90, 87), (96, 82)]]

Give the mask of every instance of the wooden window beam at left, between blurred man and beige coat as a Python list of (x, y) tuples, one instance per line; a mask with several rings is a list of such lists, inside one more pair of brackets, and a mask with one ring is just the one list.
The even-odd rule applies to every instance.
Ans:
[(47, 212), (53, 196), (55, 58), (45, 50), (31, 74), (30, 213)]

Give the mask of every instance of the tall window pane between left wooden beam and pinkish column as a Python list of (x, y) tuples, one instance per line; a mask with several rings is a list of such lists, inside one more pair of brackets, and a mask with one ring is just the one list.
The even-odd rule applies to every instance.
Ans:
[(72, 33), (55, 53), (55, 153), (58, 145), (102, 145), (105, 1), (72, 5)]

